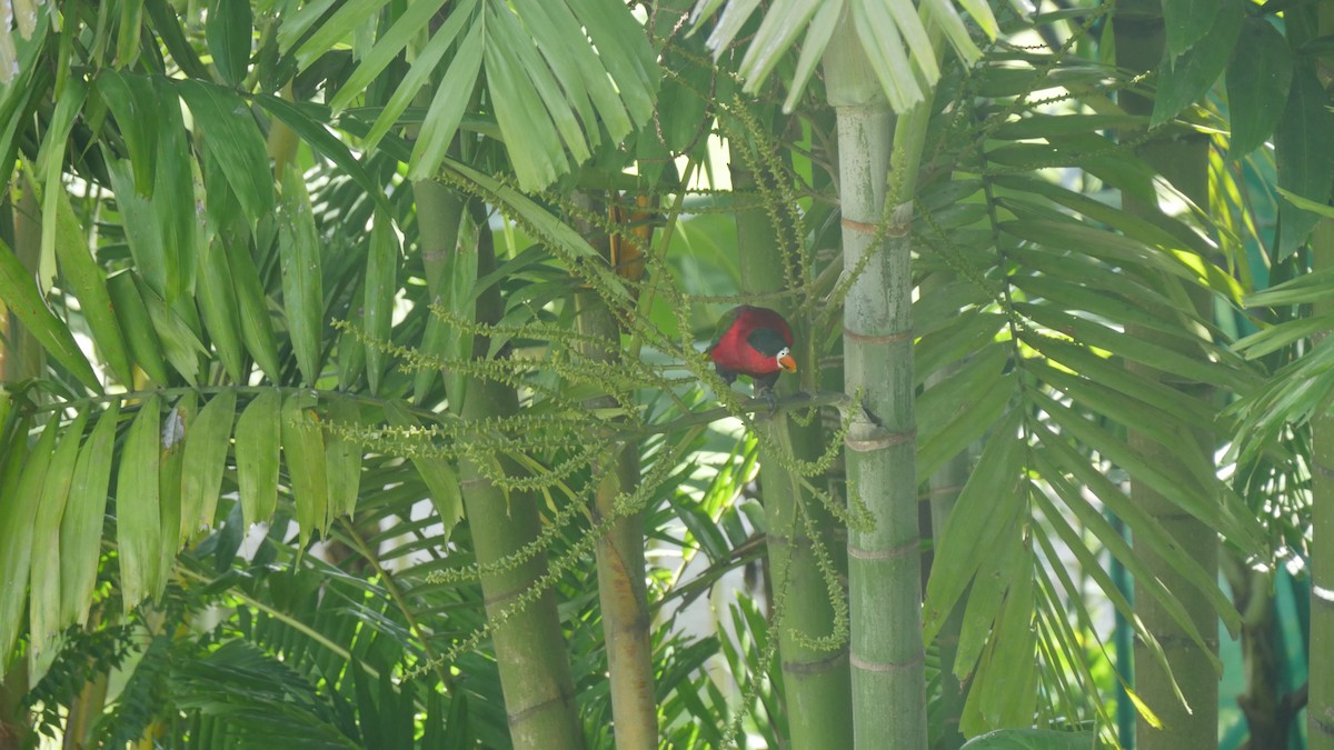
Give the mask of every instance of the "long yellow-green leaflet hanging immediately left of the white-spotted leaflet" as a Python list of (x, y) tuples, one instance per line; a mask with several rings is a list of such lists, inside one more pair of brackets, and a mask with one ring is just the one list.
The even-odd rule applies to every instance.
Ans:
[(127, 615), (145, 598), (156, 597), (167, 583), (160, 569), (164, 539), (157, 491), (159, 418), (157, 396), (148, 396), (125, 434), (116, 478), (116, 540)]

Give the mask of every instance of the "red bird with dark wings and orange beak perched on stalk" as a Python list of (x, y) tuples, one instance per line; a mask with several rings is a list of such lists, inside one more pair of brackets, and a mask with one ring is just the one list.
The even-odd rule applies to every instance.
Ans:
[(704, 350), (714, 368), (728, 386), (738, 375), (755, 383), (755, 398), (771, 407), (774, 384), (783, 372), (796, 372), (792, 359), (792, 328), (783, 316), (767, 307), (743, 304), (727, 311), (718, 322), (714, 343)]

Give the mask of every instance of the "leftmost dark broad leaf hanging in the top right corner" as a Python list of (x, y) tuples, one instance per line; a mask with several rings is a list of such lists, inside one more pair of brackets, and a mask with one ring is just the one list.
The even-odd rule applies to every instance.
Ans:
[[(1245, 8), (1242, 0), (1187, 0), (1191, 3), (1214, 4), (1217, 8), (1205, 19), (1201, 28), (1207, 28), (1197, 44), (1178, 57), (1166, 57), (1158, 67), (1158, 95), (1154, 97), (1154, 113), (1150, 127), (1158, 127), (1177, 116), (1190, 104), (1199, 101), (1218, 81), (1227, 60), (1233, 56), (1237, 39), (1242, 31)], [(1174, 5), (1167, 3), (1166, 5)], [(1169, 31), (1171, 41), (1171, 31)]]

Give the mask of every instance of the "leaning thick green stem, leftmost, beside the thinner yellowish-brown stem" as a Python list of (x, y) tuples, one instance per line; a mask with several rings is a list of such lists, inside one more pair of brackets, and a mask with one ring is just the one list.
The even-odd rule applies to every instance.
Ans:
[[(412, 187), (416, 194), (423, 258), (443, 259), (454, 252), (463, 252), (452, 242), (459, 236), (459, 227), (447, 226), (450, 218), (463, 218), (459, 198), (431, 180), (415, 181)], [(495, 270), (495, 250), (492, 235), (484, 224), (479, 226), (478, 238), (476, 274), (480, 278)], [(442, 244), (447, 240), (450, 244)], [(454, 267), (464, 268), (468, 264), (459, 263)], [(432, 296), (443, 295), (442, 290), (430, 291)], [(478, 298), (478, 322), (494, 324), (502, 314), (499, 288), (492, 286), (484, 290)], [(472, 355), (483, 358), (488, 348), (488, 342), (478, 336)], [(454, 379), (446, 380), (458, 391), (452, 386)], [(503, 383), (468, 376), (462, 379), (462, 396), (447, 391), (450, 410), (460, 419), (496, 420), (519, 411), (518, 394)], [(508, 462), (502, 456), (498, 459)], [(538, 498), (532, 492), (520, 491), (511, 491), (507, 496), (487, 478), (483, 467), (471, 459), (459, 462), (459, 484), (478, 565), (483, 570), (494, 570), (482, 575), (482, 594), (492, 626), (511, 741), (520, 750), (582, 749), (583, 727), (575, 706), (574, 681), (570, 677), (555, 597), (548, 590), (514, 611), (519, 598), (547, 575), (547, 558), (536, 554), (518, 565), (496, 566), (506, 558), (520, 556), (520, 550), (538, 539), (542, 531)]]

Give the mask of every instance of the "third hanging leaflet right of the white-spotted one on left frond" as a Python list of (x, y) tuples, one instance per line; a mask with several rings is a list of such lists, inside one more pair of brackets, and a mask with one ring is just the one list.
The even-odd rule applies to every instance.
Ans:
[(287, 396), (283, 402), (281, 432), (283, 459), (292, 483), (300, 546), (304, 548), (313, 531), (323, 535), (329, 524), (324, 431), (315, 412), (315, 396), (307, 392)]

